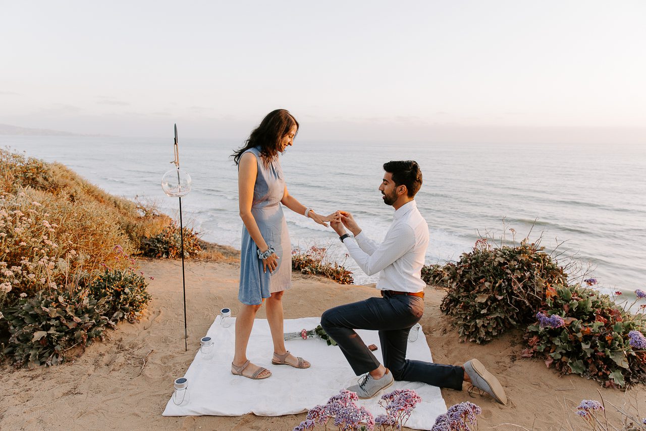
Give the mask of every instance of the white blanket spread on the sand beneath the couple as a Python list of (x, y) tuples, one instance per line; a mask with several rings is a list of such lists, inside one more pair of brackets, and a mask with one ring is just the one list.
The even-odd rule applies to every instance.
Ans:
[[(313, 329), (320, 323), (319, 317), (285, 320), (286, 332)], [(408, 359), (431, 362), (431, 352), (426, 338), (419, 331), (415, 342), (408, 343)], [(379, 346), (377, 331), (357, 331), (366, 344)], [(207, 336), (214, 340), (213, 359), (205, 360), (198, 351), (184, 377), (189, 383), (189, 404), (176, 406), (169, 400), (165, 416), (221, 415), (238, 416), (253, 413), (260, 416), (279, 416), (306, 412), (317, 404), (325, 404), (339, 390), (356, 384), (346, 358), (337, 346), (328, 346), (320, 338), (286, 341), (287, 350), (309, 360), (312, 366), (296, 370), (290, 366), (271, 365), (273, 344), (267, 320), (256, 319), (251, 332), (247, 357), (251, 362), (265, 366), (272, 375), (268, 379), (252, 381), (231, 374), (231, 357), (234, 346), (234, 324), (225, 328), (220, 325), (220, 316), (209, 328)], [(375, 351), (382, 361), (381, 349)], [(181, 377), (181, 376), (176, 376)], [(359, 400), (377, 417), (386, 413), (379, 406), (380, 395), (395, 389), (413, 389), (422, 397), (406, 426), (418, 430), (430, 430), (437, 415), (446, 412), (446, 404), (439, 388), (424, 383), (395, 382), (393, 386), (370, 400)], [(298, 425), (295, 423), (293, 426)]]

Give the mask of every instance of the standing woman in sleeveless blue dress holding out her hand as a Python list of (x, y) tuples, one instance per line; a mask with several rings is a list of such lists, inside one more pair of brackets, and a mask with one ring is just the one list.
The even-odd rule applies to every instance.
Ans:
[(267, 300), (267, 322), (274, 344), (271, 363), (309, 368), (309, 362), (286, 351), (283, 340), (282, 295), (291, 287), (291, 243), (282, 206), (328, 227), (311, 208), (287, 193), (279, 153), (293, 144), (297, 120), (285, 109), (271, 111), (251, 132), (243, 148), (233, 154), (238, 165), (238, 193), (242, 228), (240, 290), (242, 309), (236, 317), (236, 344), (231, 373), (266, 379), (271, 371), (251, 364), (247, 344), (260, 306)]

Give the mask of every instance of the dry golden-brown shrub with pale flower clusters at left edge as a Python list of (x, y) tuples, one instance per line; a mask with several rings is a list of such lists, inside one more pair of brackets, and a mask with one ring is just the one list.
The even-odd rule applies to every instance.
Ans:
[[(42, 289), (71, 289), (81, 274), (134, 266), (118, 216), (92, 201), (69, 203), (27, 188), (0, 196), (0, 283), (16, 298)], [(123, 252), (121, 252), (123, 250)], [(7, 284), (8, 283), (8, 284)]]

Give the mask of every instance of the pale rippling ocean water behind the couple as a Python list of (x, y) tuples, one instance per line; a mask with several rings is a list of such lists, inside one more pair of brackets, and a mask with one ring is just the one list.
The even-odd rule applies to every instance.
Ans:
[[(181, 135), (180, 135), (181, 136)], [(229, 155), (240, 140), (180, 138), (180, 163), (193, 179), (182, 199), (183, 217), (203, 238), (240, 247), (237, 169)], [(0, 146), (61, 162), (104, 190), (156, 201), (176, 216), (178, 201), (161, 191), (173, 168), (172, 138), (12, 137)], [(574, 255), (594, 267), (608, 290), (644, 288), (646, 275), (646, 148), (575, 144), (368, 144), (296, 140), (281, 156), (287, 188), (319, 214), (347, 210), (366, 234), (382, 239), (393, 209), (377, 188), (382, 164), (417, 160), (424, 184), (417, 206), (428, 221), (427, 263), (457, 260), (480, 234), (516, 241), (532, 229), (548, 251)], [(330, 229), (285, 208), (294, 247), (344, 248)], [(505, 228), (503, 228), (503, 218)], [(535, 221), (536, 220), (536, 221)], [(363, 274), (353, 261), (355, 282)]]

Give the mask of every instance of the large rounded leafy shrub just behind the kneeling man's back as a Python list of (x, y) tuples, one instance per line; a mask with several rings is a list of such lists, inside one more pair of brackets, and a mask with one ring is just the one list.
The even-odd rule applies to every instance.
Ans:
[(567, 274), (545, 247), (523, 239), (516, 247), (491, 247), (479, 239), (457, 263), (426, 269), (427, 280), (448, 287), (441, 310), (464, 340), (488, 342), (528, 324), (551, 285)]

